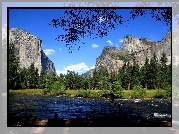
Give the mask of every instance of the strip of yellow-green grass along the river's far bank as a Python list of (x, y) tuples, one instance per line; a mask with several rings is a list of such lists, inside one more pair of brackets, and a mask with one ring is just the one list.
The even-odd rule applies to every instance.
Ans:
[[(49, 93), (44, 94), (43, 89), (26, 89), (26, 90), (9, 90), (10, 94), (27, 94), (27, 95), (45, 95), (45, 96), (65, 96), (65, 97), (110, 97), (110, 91), (103, 90), (51, 90)], [(133, 98), (133, 90), (123, 90), (122, 98)], [(164, 90), (146, 90), (142, 98), (163, 98), (166, 97)], [(135, 97), (140, 98), (140, 97)]]

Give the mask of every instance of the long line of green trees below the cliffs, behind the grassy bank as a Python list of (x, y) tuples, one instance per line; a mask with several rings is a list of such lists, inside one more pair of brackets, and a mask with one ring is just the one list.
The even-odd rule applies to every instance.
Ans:
[(34, 64), (28, 68), (20, 68), (19, 59), (14, 55), (14, 45), (9, 44), (9, 89), (43, 89), (44, 93), (51, 90), (110, 90), (122, 94), (122, 90), (132, 90), (136, 87), (145, 89), (164, 89), (171, 95), (171, 64), (167, 65), (166, 54), (162, 53), (158, 61), (156, 54), (146, 57), (142, 67), (134, 61), (127, 64), (117, 73), (109, 73), (107, 69), (94, 70), (93, 77), (82, 77), (74, 71), (66, 75), (48, 74), (43, 70), (38, 74)]

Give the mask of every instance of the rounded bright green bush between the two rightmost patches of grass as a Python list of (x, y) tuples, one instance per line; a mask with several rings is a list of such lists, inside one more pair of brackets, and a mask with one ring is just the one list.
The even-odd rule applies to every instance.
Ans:
[(141, 85), (135, 85), (132, 89), (132, 98), (143, 98), (146, 95), (146, 89)]

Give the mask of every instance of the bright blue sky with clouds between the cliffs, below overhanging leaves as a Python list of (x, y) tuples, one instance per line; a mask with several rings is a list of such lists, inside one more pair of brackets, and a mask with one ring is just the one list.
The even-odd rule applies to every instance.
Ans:
[[(129, 19), (129, 12), (127, 9), (117, 11), (124, 19)], [(119, 25), (116, 30), (110, 30), (107, 37), (97, 39), (85, 37), (82, 39), (85, 44), (80, 44), (81, 49), (76, 48), (73, 53), (69, 53), (65, 42), (55, 40), (58, 34), (63, 33), (62, 29), (48, 25), (52, 19), (63, 16), (63, 9), (11, 9), (9, 13), (10, 28), (21, 28), (42, 39), (42, 49), (54, 62), (58, 74), (66, 73), (67, 70), (81, 74), (94, 68), (96, 58), (100, 56), (103, 48), (112, 46), (119, 49), (125, 35), (160, 41), (168, 32), (165, 24), (155, 21), (151, 16), (139, 17), (130, 20), (127, 27)]]

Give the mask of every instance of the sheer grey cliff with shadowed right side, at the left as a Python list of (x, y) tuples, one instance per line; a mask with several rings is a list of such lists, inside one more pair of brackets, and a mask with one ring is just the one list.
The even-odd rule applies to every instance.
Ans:
[(19, 28), (12, 28), (9, 30), (9, 41), (14, 43), (15, 55), (20, 60), (20, 67), (28, 68), (34, 63), (39, 73), (42, 69), (48, 73), (56, 72), (54, 63), (42, 50), (42, 40), (39, 37)]

